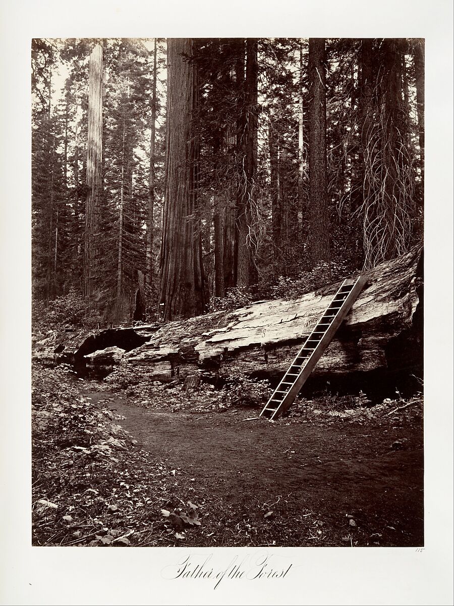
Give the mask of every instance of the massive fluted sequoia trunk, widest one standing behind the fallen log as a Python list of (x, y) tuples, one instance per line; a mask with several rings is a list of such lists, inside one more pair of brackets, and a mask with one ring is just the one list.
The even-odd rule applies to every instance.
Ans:
[(190, 38), (167, 42), (167, 138), (165, 196), (161, 248), (159, 302), (164, 319), (196, 316), (203, 310), (200, 229), (196, 210), (195, 158), (192, 116), (196, 107), (196, 67)]

